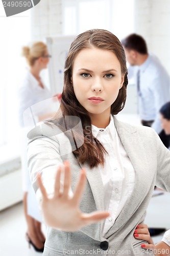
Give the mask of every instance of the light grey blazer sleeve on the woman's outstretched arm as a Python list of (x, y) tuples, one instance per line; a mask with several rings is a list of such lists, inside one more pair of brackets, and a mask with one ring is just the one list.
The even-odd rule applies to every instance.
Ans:
[[(28, 133), (28, 170), (38, 201), (41, 201), (41, 193), (37, 186), (37, 174), (41, 174), (42, 183), (50, 197), (54, 194), (57, 168), (63, 164), (60, 145), (56, 139), (56, 134), (61, 131), (56, 131), (56, 129), (56, 127), (54, 129), (53, 126), (42, 123)], [(72, 196), (71, 189), (69, 195)]]

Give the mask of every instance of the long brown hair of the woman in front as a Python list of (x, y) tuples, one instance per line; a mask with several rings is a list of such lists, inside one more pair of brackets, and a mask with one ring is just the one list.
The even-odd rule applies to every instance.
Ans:
[(91, 119), (86, 109), (77, 100), (74, 88), (71, 82), (72, 67), (77, 54), (82, 49), (96, 47), (113, 52), (122, 69), (122, 74), (125, 74), (123, 87), (119, 90), (118, 96), (111, 105), (111, 114), (117, 114), (125, 105), (126, 89), (128, 84), (126, 57), (122, 44), (118, 38), (111, 32), (103, 29), (88, 30), (78, 35), (71, 43), (64, 70), (64, 88), (61, 96), (61, 112), (64, 116), (77, 116), (81, 119), (84, 143), (77, 148), (73, 153), (77, 156), (80, 163), (87, 162), (90, 167), (104, 165), (104, 155), (107, 153), (104, 146), (98, 141), (91, 132)]

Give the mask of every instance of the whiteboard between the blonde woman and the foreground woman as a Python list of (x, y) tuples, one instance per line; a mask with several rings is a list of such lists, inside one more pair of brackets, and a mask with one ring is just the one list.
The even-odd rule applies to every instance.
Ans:
[(62, 93), (64, 79), (64, 63), (71, 42), (76, 35), (46, 37), (48, 52), (52, 55), (48, 64), (50, 87), (52, 94)]

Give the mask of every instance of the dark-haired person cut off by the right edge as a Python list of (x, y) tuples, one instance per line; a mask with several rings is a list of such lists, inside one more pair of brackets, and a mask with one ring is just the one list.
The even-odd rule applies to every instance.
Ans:
[(161, 126), (167, 138), (169, 139), (167, 147), (170, 150), (170, 101), (164, 104), (159, 112), (160, 112)]

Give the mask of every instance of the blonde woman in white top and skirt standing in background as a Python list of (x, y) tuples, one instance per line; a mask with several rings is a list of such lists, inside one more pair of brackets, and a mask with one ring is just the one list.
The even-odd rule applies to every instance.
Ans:
[[(29, 245), (32, 245), (36, 251), (43, 252), (45, 237), (41, 231), (41, 218), (35, 199), (35, 193), (32, 189), (27, 167), (27, 133), (30, 129), (30, 116), (25, 110), (32, 105), (52, 97), (51, 92), (45, 87), (40, 72), (47, 68), (51, 55), (49, 55), (47, 46), (39, 41), (32, 44), (31, 47), (22, 48), (22, 55), (26, 58), (29, 68), (22, 80), (19, 89), (19, 119), (21, 129), (21, 164), (23, 181), (23, 205), (27, 221), (26, 237)], [(60, 95), (57, 94), (60, 98)], [(40, 104), (39, 103), (39, 104)], [(30, 108), (31, 109), (31, 108)], [(24, 113), (24, 115), (23, 115)], [(45, 120), (53, 116), (50, 106), (44, 103), (34, 108), (34, 117), (36, 122)], [(23, 117), (25, 124), (23, 123)]]

